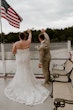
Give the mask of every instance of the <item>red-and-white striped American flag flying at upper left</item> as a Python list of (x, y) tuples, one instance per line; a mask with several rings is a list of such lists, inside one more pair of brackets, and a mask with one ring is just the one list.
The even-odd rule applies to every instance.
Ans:
[(1, 0), (1, 17), (5, 18), (13, 27), (20, 28), (21, 16), (5, 0)]

